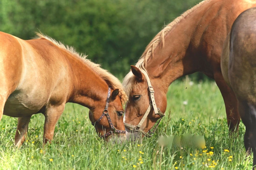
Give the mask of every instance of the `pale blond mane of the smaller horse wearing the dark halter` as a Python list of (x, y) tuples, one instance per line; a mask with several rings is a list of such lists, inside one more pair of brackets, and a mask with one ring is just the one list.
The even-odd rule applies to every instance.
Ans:
[(89, 68), (91, 68), (96, 74), (98, 74), (107, 84), (112, 86), (114, 89), (116, 89), (116, 88), (119, 89), (118, 96), (120, 96), (123, 104), (128, 100), (128, 97), (125, 93), (122, 83), (113, 74), (111, 74), (108, 70), (101, 68), (100, 64), (91, 62), (89, 59), (86, 58), (87, 55), (80, 54), (72, 46), (69, 47), (69, 46), (61, 43), (60, 41), (53, 39), (52, 37), (42, 34), (41, 32), (36, 32), (35, 34), (36, 34), (36, 36), (34, 37), (34, 39), (47, 39), (47, 40), (51, 41), (53, 44), (55, 44), (56, 46), (60, 47), (61, 49), (67, 50), (74, 56), (78, 57), (81, 61), (83, 61)]

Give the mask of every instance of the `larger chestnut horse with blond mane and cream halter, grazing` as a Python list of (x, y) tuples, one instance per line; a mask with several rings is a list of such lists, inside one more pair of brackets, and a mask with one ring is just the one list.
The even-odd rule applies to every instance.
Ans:
[(129, 96), (124, 116), (127, 139), (130, 132), (150, 136), (148, 132), (166, 111), (169, 85), (197, 71), (216, 81), (225, 102), (229, 130), (238, 128), (237, 100), (223, 79), (221, 53), (233, 21), (254, 6), (256, 1), (205, 0), (153, 38), (123, 82)]

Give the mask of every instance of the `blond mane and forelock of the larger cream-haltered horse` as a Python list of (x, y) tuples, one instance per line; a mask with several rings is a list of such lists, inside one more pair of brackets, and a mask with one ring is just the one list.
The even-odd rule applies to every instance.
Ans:
[[(186, 16), (194, 12), (198, 7), (201, 5), (209, 2), (211, 0), (204, 0), (194, 7), (190, 8), (189, 10), (185, 11), (182, 13), (179, 17), (174, 19), (171, 23), (169, 23), (165, 28), (163, 28), (151, 41), (150, 44), (147, 45), (145, 51), (139, 58), (138, 62), (136, 63), (136, 67), (139, 69), (144, 69), (146, 71), (146, 66), (147, 66), (147, 60), (150, 57), (154, 57), (154, 50), (157, 48), (157, 46), (160, 44), (162, 47), (165, 46), (165, 37), (166, 35), (172, 30), (174, 26), (176, 26), (182, 19), (184, 19)], [(129, 96), (131, 89), (135, 88), (136, 86), (136, 78), (132, 74), (131, 71), (125, 76), (124, 81), (123, 81), (123, 86), (125, 88), (126, 94)]]

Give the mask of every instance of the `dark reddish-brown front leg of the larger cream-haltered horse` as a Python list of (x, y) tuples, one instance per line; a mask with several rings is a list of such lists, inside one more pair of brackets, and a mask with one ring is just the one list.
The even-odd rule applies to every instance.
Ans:
[(229, 126), (230, 135), (233, 132), (238, 132), (239, 123), (240, 123), (240, 115), (238, 112), (238, 103), (237, 98), (234, 92), (228, 87), (226, 82), (223, 79), (223, 75), (221, 72), (214, 74), (215, 82), (221, 91), (227, 115), (227, 122)]

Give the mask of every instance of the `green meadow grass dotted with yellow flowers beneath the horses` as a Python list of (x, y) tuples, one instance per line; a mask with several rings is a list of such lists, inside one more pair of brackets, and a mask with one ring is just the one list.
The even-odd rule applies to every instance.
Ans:
[[(174, 82), (166, 117), (154, 137), (140, 142), (104, 142), (89, 121), (88, 109), (68, 103), (52, 144), (42, 149), (43, 123), (42, 114), (33, 115), (29, 138), (16, 149), (17, 118), (3, 116), (0, 169), (252, 169), (252, 158), (245, 157), (245, 127), (241, 123), (238, 136), (229, 137), (224, 102), (214, 82), (193, 84), (188, 78)], [(204, 135), (207, 148), (164, 147), (160, 154), (158, 136), (184, 133)]]

